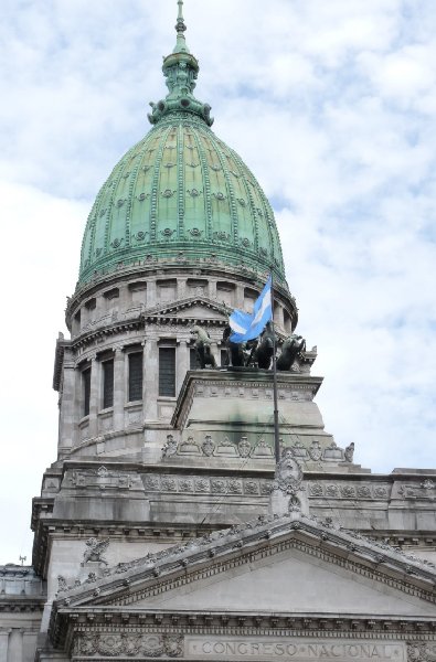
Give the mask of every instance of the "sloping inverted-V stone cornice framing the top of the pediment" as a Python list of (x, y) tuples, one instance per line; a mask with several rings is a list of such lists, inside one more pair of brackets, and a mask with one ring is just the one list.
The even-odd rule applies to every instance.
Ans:
[[(60, 607), (89, 601), (134, 605), (148, 596), (291, 548), (436, 604), (434, 564), (369, 541), (358, 533), (338, 531), (331, 522), (320, 523), (313, 516), (293, 512), (283, 517), (260, 517), (246, 526), (217, 531), (191, 540), (181, 547), (107, 568), (105, 577), (96, 581), (93, 589), (68, 590)], [(134, 590), (135, 583), (137, 590)]]

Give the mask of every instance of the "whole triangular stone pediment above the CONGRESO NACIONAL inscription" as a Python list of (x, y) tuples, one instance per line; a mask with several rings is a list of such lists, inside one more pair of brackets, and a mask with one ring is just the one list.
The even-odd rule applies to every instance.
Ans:
[[(434, 617), (435, 569), (309, 517), (216, 532), (68, 591), (74, 607)], [(124, 588), (125, 587), (125, 588)]]

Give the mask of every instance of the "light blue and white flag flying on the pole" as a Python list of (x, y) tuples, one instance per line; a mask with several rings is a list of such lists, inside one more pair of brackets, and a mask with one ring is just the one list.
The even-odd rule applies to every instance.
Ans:
[(266, 323), (273, 319), (272, 287), (273, 276), (269, 276), (264, 289), (254, 303), (252, 313), (242, 312), (242, 310), (234, 310), (232, 312), (228, 318), (228, 323), (233, 331), (228, 339), (231, 342), (246, 342), (260, 335)]

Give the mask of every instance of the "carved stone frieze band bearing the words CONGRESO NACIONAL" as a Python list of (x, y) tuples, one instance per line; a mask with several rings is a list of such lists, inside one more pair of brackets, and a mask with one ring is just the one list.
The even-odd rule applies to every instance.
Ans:
[[(194, 618), (193, 616), (191, 618)], [(213, 620), (211, 616), (210, 621)], [(242, 618), (241, 620), (246, 620)], [(258, 620), (262, 620), (258, 619)], [(278, 620), (278, 619), (277, 619)], [(308, 619), (309, 620), (309, 619)], [(203, 628), (192, 630), (188, 628), (183, 633), (161, 632), (159, 630), (143, 632), (137, 628), (128, 628), (120, 632), (114, 629), (108, 631), (86, 631), (77, 628), (73, 638), (72, 654), (75, 660), (109, 656), (111, 659), (156, 659), (156, 658), (187, 658), (187, 659), (331, 659), (341, 660), (370, 660), (397, 662), (433, 662), (436, 660), (436, 643), (425, 640), (405, 639), (404, 634), (395, 637), (374, 633), (370, 623), (368, 632), (344, 632), (337, 628), (333, 633), (321, 630), (319, 633), (295, 633), (286, 631), (265, 632), (263, 630), (247, 631), (240, 628), (238, 632), (228, 631), (230, 628), (220, 629), (219, 632)], [(143, 630), (143, 629), (142, 629)], [(171, 628), (173, 630), (173, 628)], [(338, 630), (340, 639), (338, 640)], [(374, 636), (375, 634), (375, 636)], [(433, 639), (433, 638), (432, 638)]]

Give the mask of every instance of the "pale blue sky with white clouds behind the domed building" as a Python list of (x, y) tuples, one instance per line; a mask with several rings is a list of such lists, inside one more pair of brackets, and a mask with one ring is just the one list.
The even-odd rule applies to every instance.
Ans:
[[(176, 0), (3, 0), (0, 563), (56, 457), (55, 339), (87, 213), (164, 96)], [(436, 467), (436, 3), (185, 0), (195, 94), (276, 211), (326, 429)]]

